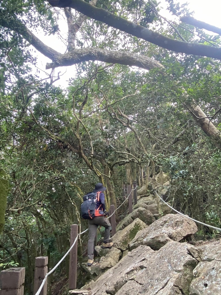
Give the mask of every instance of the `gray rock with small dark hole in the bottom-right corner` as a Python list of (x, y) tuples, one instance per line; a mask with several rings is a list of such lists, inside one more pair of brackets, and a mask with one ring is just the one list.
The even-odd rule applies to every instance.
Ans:
[(218, 295), (221, 294), (221, 261), (200, 262), (194, 268), (189, 287), (189, 295)]

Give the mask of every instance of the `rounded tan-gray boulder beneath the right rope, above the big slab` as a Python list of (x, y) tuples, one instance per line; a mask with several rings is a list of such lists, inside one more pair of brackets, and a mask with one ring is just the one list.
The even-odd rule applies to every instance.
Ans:
[(179, 242), (196, 232), (197, 226), (192, 220), (180, 214), (167, 214), (138, 232), (129, 248), (132, 250), (139, 245), (147, 245), (158, 250), (170, 240)]

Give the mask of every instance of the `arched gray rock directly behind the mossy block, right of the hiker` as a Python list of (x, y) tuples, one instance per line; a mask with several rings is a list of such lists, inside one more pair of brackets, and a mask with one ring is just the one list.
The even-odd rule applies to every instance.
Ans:
[(147, 225), (153, 223), (156, 220), (154, 215), (149, 210), (138, 207), (137, 209), (133, 210), (132, 213), (128, 214), (123, 220), (121, 220), (121, 222), (117, 225), (116, 230), (123, 230), (136, 218), (141, 219)]

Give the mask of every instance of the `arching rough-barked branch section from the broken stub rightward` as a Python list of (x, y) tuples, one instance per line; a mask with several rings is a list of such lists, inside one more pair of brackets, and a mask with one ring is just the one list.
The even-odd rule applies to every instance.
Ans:
[(74, 65), (76, 63), (90, 60), (137, 66), (146, 70), (152, 68), (163, 68), (159, 62), (144, 55), (138, 55), (126, 51), (109, 51), (100, 48), (82, 48), (56, 56), (53, 63), (47, 63), (46, 69)]

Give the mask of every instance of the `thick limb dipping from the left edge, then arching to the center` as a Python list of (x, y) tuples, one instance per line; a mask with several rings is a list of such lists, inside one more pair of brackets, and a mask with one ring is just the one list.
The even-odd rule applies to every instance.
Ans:
[[(137, 66), (147, 70), (152, 68), (163, 68), (163, 66), (156, 60), (153, 60), (144, 55), (128, 53), (125, 51), (109, 51), (100, 48), (82, 48), (76, 50), (72, 49), (68, 53), (62, 54), (45, 45), (29, 29), (27, 29), (22, 21), (16, 19), (15, 17), (10, 19), (5, 17), (4, 20), (1, 18), (0, 25), (10, 30), (15, 30), (40, 53), (50, 58), (52, 63), (47, 63), (46, 69), (69, 66), (84, 61), (95, 60), (103, 61), (105, 63), (120, 63), (122, 65)], [(69, 44), (71, 44), (71, 42), (69, 42)]]

